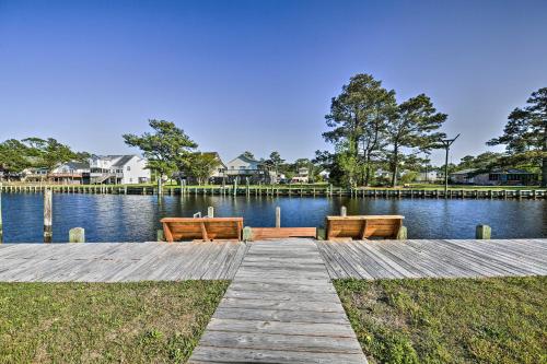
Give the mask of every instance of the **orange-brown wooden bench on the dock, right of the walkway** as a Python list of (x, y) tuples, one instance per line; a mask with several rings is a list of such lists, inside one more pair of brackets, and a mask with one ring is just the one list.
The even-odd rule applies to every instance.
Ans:
[(406, 238), (401, 215), (327, 216), (326, 239)]

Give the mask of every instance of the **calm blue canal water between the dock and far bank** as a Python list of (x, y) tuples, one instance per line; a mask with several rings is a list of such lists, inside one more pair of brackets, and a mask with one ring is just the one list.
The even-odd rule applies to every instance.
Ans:
[[(245, 225), (274, 226), (281, 207), (281, 226), (322, 226), (325, 215), (401, 214), (410, 238), (474, 238), (475, 225), (492, 226), (492, 237), (547, 237), (546, 200), (435, 200), (271, 198), (221, 196), (54, 195), (54, 240), (66, 242), (71, 227), (85, 228), (88, 242), (155, 239), (163, 216), (191, 216), (207, 207), (216, 216), (243, 216)], [(2, 213), (5, 243), (39, 243), (43, 196), (4, 193)]]

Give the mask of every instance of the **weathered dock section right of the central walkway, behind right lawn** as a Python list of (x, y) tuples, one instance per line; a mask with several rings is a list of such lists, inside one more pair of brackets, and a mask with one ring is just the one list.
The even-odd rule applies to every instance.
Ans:
[(316, 244), (333, 279), (547, 275), (547, 239)]

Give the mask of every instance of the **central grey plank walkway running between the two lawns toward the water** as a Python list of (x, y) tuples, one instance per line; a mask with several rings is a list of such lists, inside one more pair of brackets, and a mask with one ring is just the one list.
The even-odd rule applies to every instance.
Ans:
[(251, 245), (189, 363), (366, 363), (316, 245)]

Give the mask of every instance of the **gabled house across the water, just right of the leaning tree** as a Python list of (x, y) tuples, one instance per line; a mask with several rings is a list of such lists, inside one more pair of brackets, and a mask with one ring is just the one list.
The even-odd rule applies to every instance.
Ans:
[(263, 162), (244, 154), (228, 162), (224, 174), (228, 183), (234, 180), (246, 183), (247, 179), (249, 184), (271, 184), (276, 181), (276, 174), (269, 171)]

